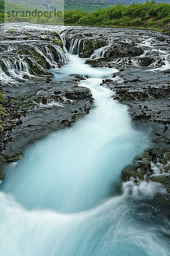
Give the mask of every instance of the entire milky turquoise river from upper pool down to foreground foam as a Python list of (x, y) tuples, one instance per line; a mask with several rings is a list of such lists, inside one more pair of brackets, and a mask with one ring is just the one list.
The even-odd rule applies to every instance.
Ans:
[(90, 88), (95, 108), (32, 145), (8, 168), (0, 186), (0, 255), (170, 255), (163, 235), (168, 222), (149, 204), (156, 192), (166, 193), (163, 186), (121, 185), (122, 169), (148, 143), (133, 128), (127, 107), (100, 86), (117, 70), (68, 58), (68, 65), (53, 70), (55, 80), (88, 75), (80, 86)]

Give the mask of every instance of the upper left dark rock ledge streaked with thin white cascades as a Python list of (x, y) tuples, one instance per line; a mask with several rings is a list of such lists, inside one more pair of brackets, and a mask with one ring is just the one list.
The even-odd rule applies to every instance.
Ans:
[(29, 74), (49, 75), (47, 70), (51, 67), (62, 67), (68, 63), (61, 38), (56, 32), (14, 30), (11, 35), (1, 29), (0, 35), (0, 48), (3, 49), (0, 68), (4, 76), (9, 76), (8, 83), (14, 82), (14, 79), (20, 82)]

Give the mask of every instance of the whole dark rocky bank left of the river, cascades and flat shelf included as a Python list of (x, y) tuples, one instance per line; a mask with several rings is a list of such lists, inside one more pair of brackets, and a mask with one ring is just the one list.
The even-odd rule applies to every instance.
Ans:
[(0, 179), (6, 162), (53, 131), (71, 126), (93, 106), (84, 76), (53, 81), (52, 69), (68, 63), (56, 32), (0, 28)]

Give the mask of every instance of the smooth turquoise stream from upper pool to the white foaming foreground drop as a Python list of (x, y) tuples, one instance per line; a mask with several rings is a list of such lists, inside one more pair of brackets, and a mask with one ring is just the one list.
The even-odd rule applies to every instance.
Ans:
[[(17, 200), (29, 209), (40, 207), (78, 212), (94, 207), (112, 195), (113, 183), (119, 181), (121, 170), (133, 160), (136, 152), (141, 151), (141, 134), (131, 128), (126, 107), (111, 99), (113, 92), (99, 86), (102, 78), (117, 70), (93, 69), (77, 56), (70, 55), (70, 60), (70, 65), (54, 71), (56, 78), (63, 80), (63, 76), (67, 78), (67, 74), (83, 70), (81, 74), (91, 78), (82, 81), (81, 85), (91, 89), (96, 109), (77, 122), (74, 128), (58, 132), (40, 145), (36, 144), (14, 170), (8, 172), (13, 174), (13, 179), (6, 177), (3, 187), (6, 192), (12, 189)], [(59, 75), (61, 71), (63, 76)], [(48, 156), (48, 161), (45, 156)], [(41, 184), (41, 193), (37, 183), (31, 182), (33, 175)]]

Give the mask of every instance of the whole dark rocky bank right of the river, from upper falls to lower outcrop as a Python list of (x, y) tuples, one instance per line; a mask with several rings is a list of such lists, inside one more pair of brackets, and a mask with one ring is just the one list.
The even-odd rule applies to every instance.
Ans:
[(86, 64), (119, 70), (101, 86), (128, 106), (133, 125), (150, 139), (150, 148), (123, 169), (123, 181), (157, 181), (170, 192), (170, 37), (134, 29), (84, 30), (80, 35), (72, 29), (66, 46), (73, 51), (76, 42)]

